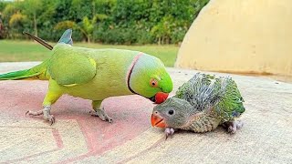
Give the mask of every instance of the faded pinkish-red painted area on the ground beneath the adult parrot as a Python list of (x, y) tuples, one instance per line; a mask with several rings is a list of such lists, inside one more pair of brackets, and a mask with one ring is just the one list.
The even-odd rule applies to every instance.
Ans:
[[(28, 117), (26, 110), (39, 110), (47, 92), (47, 81), (1, 81), (0, 83), (0, 112), (7, 118), (38, 120), (42, 117)], [(56, 120), (76, 119), (78, 126), (86, 139), (88, 153), (73, 159), (74, 161), (92, 155), (99, 155), (113, 149), (131, 138), (139, 136), (151, 127), (151, 109), (153, 104), (140, 96), (110, 97), (104, 101), (107, 114), (113, 118), (113, 123), (100, 120), (89, 115), (91, 102), (78, 97), (63, 96), (52, 106), (51, 114)], [(56, 122), (57, 124), (57, 122)], [(62, 149), (62, 138), (53, 126), (53, 135), (58, 149)], [(33, 131), (32, 131), (33, 133)], [(74, 143), (72, 143), (74, 144)], [(29, 158), (30, 155), (27, 155)]]

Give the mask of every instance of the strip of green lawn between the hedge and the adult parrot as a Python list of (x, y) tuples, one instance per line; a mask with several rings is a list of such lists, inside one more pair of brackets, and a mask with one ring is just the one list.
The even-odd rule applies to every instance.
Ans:
[[(51, 43), (53, 46), (55, 43)], [(74, 43), (74, 46), (90, 48), (119, 48), (137, 50), (162, 59), (166, 67), (173, 67), (179, 46), (116, 46)], [(43, 61), (50, 56), (50, 51), (33, 41), (0, 40), (0, 62)]]

